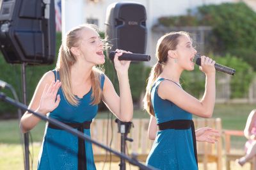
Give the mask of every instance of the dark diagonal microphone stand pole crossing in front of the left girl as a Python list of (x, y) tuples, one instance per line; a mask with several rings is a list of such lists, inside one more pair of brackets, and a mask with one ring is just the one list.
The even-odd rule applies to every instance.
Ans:
[(63, 130), (66, 130), (67, 132), (70, 132), (71, 134), (76, 135), (77, 137), (80, 137), (83, 140), (89, 141), (90, 143), (93, 143), (93, 144), (99, 146), (100, 148), (103, 148), (104, 150), (107, 150), (107, 151), (109, 151), (111, 153), (114, 153), (118, 157), (124, 158), (125, 160), (130, 162), (132, 165), (140, 167), (140, 169), (143, 169), (143, 170), (156, 170), (156, 168), (154, 168), (152, 166), (145, 166), (144, 164), (141, 164), (140, 162), (138, 162), (138, 160), (136, 160), (136, 158), (128, 157), (124, 153), (120, 153), (118, 151), (112, 150), (111, 148), (108, 148), (104, 144), (98, 143), (97, 141), (91, 139), (91, 137), (89, 135), (83, 134), (82, 132), (79, 132), (76, 129), (74, 129), (72, 127), (69, 127), (68, 125), (65, 125), (61, 121), (54, 120), (52, 118), (47, 118), (47, 116), (44, 116), (44, 115), (42, 115), (40, 113), (31, 111), (30, 109), (28, 109), (28, 106), (26, 106), (26, 105), (24, 105), (24, 104), (22, 104), (20, 102), (17, 102), (15, 100), (13, 100), (12, 98), (6, 97), (6, 95), (4, 95), (4, 93), (2, 93), (2, 92), (0, 92), (0, 100), (3, 100), (4, 102), (8, 102), (9, 104), (12, 104), (15, 107), (18, 107), (18, 108), (23, 109), (25, 111), (31, 112), (32, 114), (34, 114), (35, 116), (37, 116), (38, 118), (40, 118), (40, 119), (42, 119), (44, 121), (48, 121), (49, 123), (52, 123), (53, 125), (56, 125), (57, 127), (61, 128)]

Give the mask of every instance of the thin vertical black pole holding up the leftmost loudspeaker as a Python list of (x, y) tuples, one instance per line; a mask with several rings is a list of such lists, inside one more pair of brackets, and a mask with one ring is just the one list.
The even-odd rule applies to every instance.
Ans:
[[(26, 90), (26, 63), (22, 63), (21, 65), (21, 77), (22, 77), (22, 101), (24, 105), (27, 105), (27, 90)], [(22, 112), (25, 112), (23, 110)], [(29, 170), (29, 135), (28, 133), (24, 134), (24, 168), (25, 170)]]

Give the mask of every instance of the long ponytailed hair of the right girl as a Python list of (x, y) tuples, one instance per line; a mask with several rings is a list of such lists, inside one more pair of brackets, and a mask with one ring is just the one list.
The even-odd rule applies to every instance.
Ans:
[(189, 37), (188, 33), (184, 31), (179, 32), (171, 32), (164, 36), (161, 36), (157, 41), (156, 46), (156, 58), (157, 63), (152, 67), (148, 82), (145, 97), (143, 98), (144, 109), (152, 116), (155, 116), (155, 112), (153, 109), (152, 101), (151, 101), (151, 88), (156, 81), (157, 77), (163, 72), (163, 66), (168, 59), (168, 50), (175, 50), (178, 43), (179, 37), (182, 35), (186, 35)]

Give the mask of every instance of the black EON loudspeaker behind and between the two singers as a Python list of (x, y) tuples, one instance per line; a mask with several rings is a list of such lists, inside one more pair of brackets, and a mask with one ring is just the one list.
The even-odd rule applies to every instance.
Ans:
[(147, 14), (142, 4), (110, 4), (106, 14), (106, 36), (113, 45), (110, 50), (122, 49), (145, 54), (146, 20)]

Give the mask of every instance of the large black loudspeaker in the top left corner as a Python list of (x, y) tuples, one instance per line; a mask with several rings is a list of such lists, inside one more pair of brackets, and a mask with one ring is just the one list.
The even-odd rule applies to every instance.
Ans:
[(56, 54), (54, 0), (3, 0), (0, 49), (8, 63), (51, 64)]

